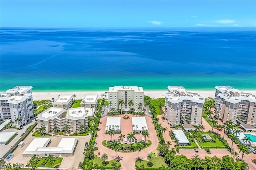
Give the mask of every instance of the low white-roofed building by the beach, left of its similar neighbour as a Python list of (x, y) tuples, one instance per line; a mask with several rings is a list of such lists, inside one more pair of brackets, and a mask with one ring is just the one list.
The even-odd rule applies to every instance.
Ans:
[(53, 103), (53, 107), (68, 109), (72, 107), (73, 95), (60, 95)]

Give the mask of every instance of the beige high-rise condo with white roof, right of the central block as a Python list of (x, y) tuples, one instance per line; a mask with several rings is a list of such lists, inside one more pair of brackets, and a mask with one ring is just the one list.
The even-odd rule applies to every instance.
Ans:
[(164, 112), (168, 124), (177, 125), (188, 121), (200, 125), (204, 101), (200, 94), (187, 92), (182, 86), (168, 86)]

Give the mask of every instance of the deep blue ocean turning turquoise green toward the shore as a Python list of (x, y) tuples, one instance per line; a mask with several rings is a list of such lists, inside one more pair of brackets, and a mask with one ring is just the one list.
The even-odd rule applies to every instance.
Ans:
[(0, 90), (256, 90), (253, 29), (1, 28)]

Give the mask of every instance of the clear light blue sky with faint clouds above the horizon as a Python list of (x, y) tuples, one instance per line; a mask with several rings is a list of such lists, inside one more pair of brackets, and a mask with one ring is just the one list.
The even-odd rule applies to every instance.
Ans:
[(1, 0), (1, 27), (256, 27), (256, 1)]

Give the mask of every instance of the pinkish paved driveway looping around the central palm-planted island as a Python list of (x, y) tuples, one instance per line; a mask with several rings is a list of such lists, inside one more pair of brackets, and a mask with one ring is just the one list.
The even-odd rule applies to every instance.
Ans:
[[(121, 133), (127, 136), (128, 133), (132, 132), (132, 119), (131, 117), (136, 117), (134, 115), (129, 115), (130, 119), (123, 119), (124, 115), (120, 115), (121, 117)], [(156, 150), (158, 146), (158, 138), (156, 137), (156, 131), (154, 130), (154, 124), (152, 122), (152, 119), (150, 117), (144, 116), (146, 118), (146, 122), (148, 125), (148, 132), (149, 137), (146, 138), (146, 141), (150, 140), (152, 142), (152, 145), (146, 149), (143, 149), (139, 152), (139, 157), (143, 160), (147, 160), (147, 155), (150, 152), (157, 152)], [(107, 140), (109, 141), (111, 139), (110, 135), (105, 134), (105, 127), (106, 127), (106, 121), (107, 117), (103, 117), (100, 119), (100, 125), (98, 129), (98, 137), (96, 138), (96, 143), (98, 145), (98, 150), (94, 152), (94, 154), (98, 154), (100, 152), (100, 156), (103, 153), (106, 153), (108, 155), (108, 160), (116, 159), (116, 152), (114, 150), (108, 149), (102, 145), (102, 141)], [(118, 139), (118, 136), (120, 134), (115, 134), (112, 136), (113, 139)], [(141, 141), (141, 134), (136, 134), (135, 137), (138, 139), (138, 141)], [(123, 153), (118, 152), (118, 157), (120, 157), (120, 163), (122, 166), (122, 170), (134, 170), (135, 169), (135, 162), (137, 158), (137, 152), (130, 152), (130, 153)]]

